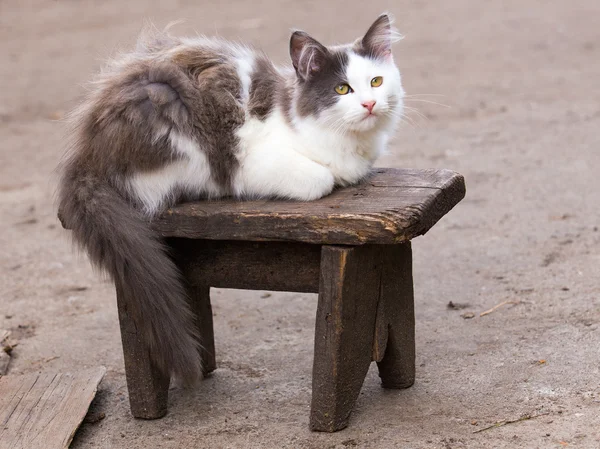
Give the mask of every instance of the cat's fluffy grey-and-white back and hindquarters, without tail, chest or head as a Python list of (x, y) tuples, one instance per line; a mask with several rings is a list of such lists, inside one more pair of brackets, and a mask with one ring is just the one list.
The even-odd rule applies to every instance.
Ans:
[(103, 70), (73, 115), (71, 166), (112, 180), (148, 211), (176, 191), (229, 194), (238, 131), (265, 120), (280, 77), (263, 53), (223, 39), (144, 39)]

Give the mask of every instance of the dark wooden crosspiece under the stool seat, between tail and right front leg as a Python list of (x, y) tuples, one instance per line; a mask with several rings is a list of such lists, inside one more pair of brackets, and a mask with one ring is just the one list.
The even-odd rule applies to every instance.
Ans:
[(317, 293), (321, 247), (291, 242), (168, 239), (192, 285)]

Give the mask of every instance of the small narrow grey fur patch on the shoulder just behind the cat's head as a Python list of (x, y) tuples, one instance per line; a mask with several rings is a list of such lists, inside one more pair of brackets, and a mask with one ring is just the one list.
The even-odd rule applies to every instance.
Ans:
[(284, 80), (273, 63), (263, 55), (255, 59), (251, 80), (248, 112), (251, 116), (264, 120), (273, 110), (277, 92), (285, 92), (282, 89)]

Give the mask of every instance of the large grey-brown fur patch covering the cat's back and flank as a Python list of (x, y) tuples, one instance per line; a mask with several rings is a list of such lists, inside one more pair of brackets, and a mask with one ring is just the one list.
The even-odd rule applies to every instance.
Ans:
[(99, 173), (124, 177), (181, 158), (168, 140), (176, 130), (198, 142), (227, 191), (238, 165), (235, 130), (244, 123), (240, 95), (235, 65), (205, 49), (135, 61), (96, 93), (76, 146)]

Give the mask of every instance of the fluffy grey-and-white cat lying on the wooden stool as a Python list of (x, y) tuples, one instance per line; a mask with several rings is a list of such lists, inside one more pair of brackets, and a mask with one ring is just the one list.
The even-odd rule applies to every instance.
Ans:
[(200, 342), (184, 287), (149, 221), (178, 201), (310, 201), (355, 184), (403, 110), (383, 14), (347, 45), (302, 31), (291, 67), (223, 39), (155, 32), (112, 61), (72, 114), (59, 214), (92, 264), (131, 298), (153, 362), (195, 383)]

